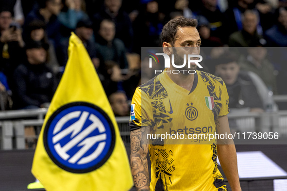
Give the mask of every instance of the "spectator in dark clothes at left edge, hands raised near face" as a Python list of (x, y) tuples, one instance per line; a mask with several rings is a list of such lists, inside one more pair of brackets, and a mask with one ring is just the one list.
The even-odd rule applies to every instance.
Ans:
[(12, 75), (23, 58), (21, 29), (17, 23), (12, 23), (12, 14), (8, 10), (0, 11), (0, 71), (2, 71), (8, 83), (11, 83)]

